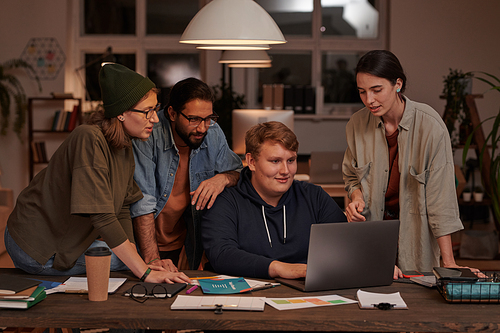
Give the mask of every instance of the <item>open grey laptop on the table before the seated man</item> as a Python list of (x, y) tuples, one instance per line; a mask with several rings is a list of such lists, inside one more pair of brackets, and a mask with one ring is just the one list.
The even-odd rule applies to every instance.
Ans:
[(305, 279), (276, 280), (302, 291), (390, 285), (399, 221), (311, 225)]

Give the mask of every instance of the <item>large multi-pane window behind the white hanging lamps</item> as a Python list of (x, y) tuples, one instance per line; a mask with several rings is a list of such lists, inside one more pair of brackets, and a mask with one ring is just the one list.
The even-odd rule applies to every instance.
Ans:
[[(67, 52), (73, 71), (66, 71), (65, 90), (98, 99), (99, 58), (149, 76), (164, 91), (189, 76), (209, 85), (221, 82), (221, 73), (230, 71), (221, 71), (219, 51), (202, 52), (179, 43), (187, 24), (209, 1), (68, 2), (75, 19)], [(233, 86), (247, 96), (247, 105), (259, 107), (262, 84), (281, 81), (316, 87), (318, 114), (335, 113), (345, 105), (357, 108), (357, 92), (351, 89), (353, 69), (365, 52), (386, 48), (388, 0), (255, 1), (273, 17), (288, 42), (268, 51), (271, 68), (231, 72)]]

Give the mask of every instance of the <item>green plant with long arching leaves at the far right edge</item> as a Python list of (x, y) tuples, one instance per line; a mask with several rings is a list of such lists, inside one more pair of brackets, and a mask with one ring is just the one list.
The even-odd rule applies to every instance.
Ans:
[[(481, 76), (479, 76), (481, 75)], [(488, 90), (496, 90), (500, 93), (500, 79), (492, 74), (488, 74), (485, 72), (478, 72), (478, 75), (474, 75), (474, 77), (482, 82), (488, 84), (491, 88)], [(487, 195), (491, 198), (491, 207), (493, 210), (493, 215), (495, 216), (495, 221), (497, 223), (497, 229), (500, 230), (500, 110), (498, 111), (496, 116), (487, 118), (476, 127), (473, 132), (467, 138), (467, 141), (464, 146), (464, 151), (462, 155), (462, 163), (465, 164), (467, 158), (467, 152), (469, 151), (470, 145), (473, 140), (474, 131), (482, 126), (482, 124), (486, 121), (493, 120), (493, 127), (489, 133), (485, 133), (485, 143), (483, 147), (479, 147), (481, 152), (479, 154), (479, 165), (482, 168), (484, 163), (484, 153), (486, 149), (491, 147), (491, 160), (490, 160), (490, 172), (489, 172), (489, 188), (486, 187)], [(484, 184), (484, 180), (483, 180)]]

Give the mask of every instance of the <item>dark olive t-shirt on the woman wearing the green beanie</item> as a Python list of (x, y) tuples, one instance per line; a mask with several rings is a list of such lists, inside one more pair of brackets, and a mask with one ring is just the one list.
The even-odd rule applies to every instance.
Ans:
[[(19, 195), (9, 233), (41, 264), (55, 255), (58, 270), (73, 267), (99, 236), (111, 248), (133, 242), (130, 215), (120, 212), (142, 198), (134, 167), (132, 148), (111, 149), (97, 126), (77, 127)], [(93, 225), (90, 214), (100, 213), (117, 218)]]

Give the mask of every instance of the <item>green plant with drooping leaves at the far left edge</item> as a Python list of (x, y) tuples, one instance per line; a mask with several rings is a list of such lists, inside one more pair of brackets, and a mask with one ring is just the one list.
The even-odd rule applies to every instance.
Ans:
[(42, 91), (42, 85), (33, 67), (24, 60), (11, 59), (0, 64), (0, 134), (7, 134), (10, 123), (10, 107), (13, 101), (16, 110), (13, 130), (22, 141), (21, 131), (26, 123), (28, 103), (23, 86), (13, 74), (9, 73), (17, 68), (24, 68), (33, 73), (39, 91)]

